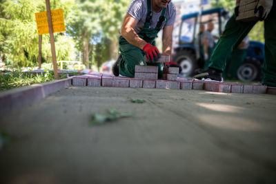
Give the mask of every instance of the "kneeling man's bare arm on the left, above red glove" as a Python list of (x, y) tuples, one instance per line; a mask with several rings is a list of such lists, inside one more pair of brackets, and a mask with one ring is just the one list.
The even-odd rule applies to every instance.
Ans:
[(137, 20), (127, 13), (123, 25), (121, 25), (121, 36), (124, 37), (128, 43), (135, 45), (137, 48), (143, 49), (147, 42), (144, 41), (144, 39), (141, 39), (135, 32), (134, 28), (137, 23)]

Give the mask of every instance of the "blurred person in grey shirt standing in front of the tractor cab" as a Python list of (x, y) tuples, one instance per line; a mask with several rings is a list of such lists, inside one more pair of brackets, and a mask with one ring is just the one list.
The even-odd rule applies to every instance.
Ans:
[(212, 34), (212, 31), (214, 30), (214, 23), (209, 22), (207, 25), (207, 30), (204, 31), (203, 34), (203, 49), (204, 49), (204, 69), (208, 68), (209, 64), (209, 57), (211, 56), (213, 49), (215, 48), (215, 39), (217, 37), (214, 37)]

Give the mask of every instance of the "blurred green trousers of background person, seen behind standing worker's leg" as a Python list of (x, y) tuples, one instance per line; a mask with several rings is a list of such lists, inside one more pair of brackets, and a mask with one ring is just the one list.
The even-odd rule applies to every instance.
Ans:
[(246, 59), (246, 49), (234, 49), (226, 61), (226, 68), (222, 73), (224, 79), (237, 79), (237, 70)]

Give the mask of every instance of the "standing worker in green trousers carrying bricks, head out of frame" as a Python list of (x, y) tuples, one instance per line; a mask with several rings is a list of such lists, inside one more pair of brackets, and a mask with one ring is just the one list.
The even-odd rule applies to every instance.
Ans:
[[(233, 15), (226, 23), (226, 28), (210, 57), (208, 70), (204, 71), (204, 78), (221, 81), (221, 73), (224, 71), (226, 59), (231, 54), (235, 45), (239, 45), (253, 28), (257, 21), (239, 22), (235, 20), (239, 0)], [(264, 21), (265, 57), (263, 64), (264, 78), (262, 84), (276, 87), (276, 0), (259, 0), (255, 7), (255, 14), (260, 21)]]

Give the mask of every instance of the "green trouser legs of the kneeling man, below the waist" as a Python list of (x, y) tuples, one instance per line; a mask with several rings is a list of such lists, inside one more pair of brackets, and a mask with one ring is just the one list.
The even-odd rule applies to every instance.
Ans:
[[(149, 43), (155, 45), (154, 40)], [(121, 61), (119, 61), (119, 73), (121, 75), (134, 77), (135, 65), (157, 65), (158, 78), (161, 79), (164, 68), (163, 63), (146, 63), (144, 59), (145, 52), (128, 43), (124, 37), (119, 38), (119, 50), (121, 52)]]

